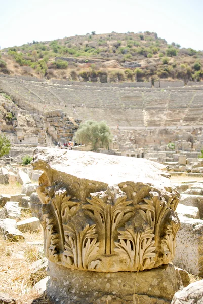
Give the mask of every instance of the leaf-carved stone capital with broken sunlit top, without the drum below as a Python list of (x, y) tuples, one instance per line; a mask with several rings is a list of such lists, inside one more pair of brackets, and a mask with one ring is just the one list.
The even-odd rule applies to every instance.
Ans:
[[(77, 168), (74, 162), (71, 168), (75, 154), (66, 151), (64, 156), (63, 152), (57, 151), (52, 159), (47, 149), (34, 154), (35, 168), (45, 172), (37, 188), (42, 204), (36, 215), (44, 229), (47, 258), (71, 269), (99, 272), (142, 271), (168, 264), (174, 257), (180, 226), (175, 212), (179, 194), (161, 170), (154, 166), (150, 172), (154, 183), (153, 178), (144, 183), (143, 176), (140, 182), (132, 176), (128, 181), (127, 174), (122, 175), (122, 169), (124, 173), (132, 170), (128, 158), (76, 152)], [(84, 177), (80, 168), (85, 163), (95, 169), (96, 161), (96, 169), (103, 166), (101, 175), (113, 173), (107, 173), (113, 162), (117, 173), (120, 166), (114, 185), (107, 182), (108, 177), (98, 178), (94, 170), (91, 179), (90, 173)], [(138, 161), (133, 161), (139, 171)], [(149, 165), (152, 170), (153, 164), (144, 160), (143, 170)], [(148, 171), (145, 174), (149, 176)]]

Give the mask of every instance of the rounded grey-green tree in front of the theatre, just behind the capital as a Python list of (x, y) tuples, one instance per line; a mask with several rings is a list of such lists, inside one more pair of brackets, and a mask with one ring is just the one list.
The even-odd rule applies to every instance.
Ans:
[(105, 121), (88, 120), (79, 126), (73, 140), (81, 144), (91, 144), (92, 150), (96, 151), (98, 148), (108, 148), (112, 135)]

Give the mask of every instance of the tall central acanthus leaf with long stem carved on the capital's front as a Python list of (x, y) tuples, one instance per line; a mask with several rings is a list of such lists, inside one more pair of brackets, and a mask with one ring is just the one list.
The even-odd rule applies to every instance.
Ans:
[(91, 193), (89, 204), (83, 208), (86, 214), (97, 224), (103, 254), (112, 254), (117, 230), (133, 215), (132, 201), (120, 189), (108, 187), (106, 192)]

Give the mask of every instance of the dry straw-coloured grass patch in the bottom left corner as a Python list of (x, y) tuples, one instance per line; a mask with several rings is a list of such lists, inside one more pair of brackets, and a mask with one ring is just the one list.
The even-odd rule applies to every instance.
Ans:
[(36, 275), (30, 273), (31, 264), (44, 257), (43, 245), (27, 244), (43, 242), (42, 229), (26, 232), (24, 236), (25, 240), (19, 242), (5, 240), (0, 236), (0, 291), (10, 294), (18, 304), (48, 304), (46, 295), (39, 297), (33, 290), (34, 284), (47, 276), (46, 271)]

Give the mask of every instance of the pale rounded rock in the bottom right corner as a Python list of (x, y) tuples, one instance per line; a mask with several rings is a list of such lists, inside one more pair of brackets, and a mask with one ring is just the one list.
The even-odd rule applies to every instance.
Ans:
[(191, 283), (175, 293), (171, 304), (203, 304), (203, 280)]

